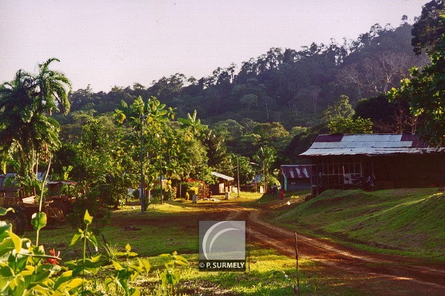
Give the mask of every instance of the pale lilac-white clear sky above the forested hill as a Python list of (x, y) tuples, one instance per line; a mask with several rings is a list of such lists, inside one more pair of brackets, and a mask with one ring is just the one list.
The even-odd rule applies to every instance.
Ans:
[(53, 65), (73, 90), (108, 92), (181, 73), (200, 79), (271, 47), (355, 40), (413, 23), (429, 0), (0, 0), (0, 83)]

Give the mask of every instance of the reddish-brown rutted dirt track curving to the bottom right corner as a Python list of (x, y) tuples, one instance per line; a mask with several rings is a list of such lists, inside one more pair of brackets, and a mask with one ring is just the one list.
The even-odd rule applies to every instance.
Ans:
[[(265, 210), (227, 204), (219, 208), (227, 211), (227, 220), (245, 220), (254, 242), (295, 258), (295, 233), (261, 220)], [(372, 254), (300, 233), (298, 253), (300, 258), (322, 263), (320, 272), (325, 276), (350, 279), (348, 285), (366, 290), (374, 281), (378, 283), (375, 286), (386, 286), (366, 290), (370, 294), (445, 295), (445, 264), (427, 265), (401, 256)]]

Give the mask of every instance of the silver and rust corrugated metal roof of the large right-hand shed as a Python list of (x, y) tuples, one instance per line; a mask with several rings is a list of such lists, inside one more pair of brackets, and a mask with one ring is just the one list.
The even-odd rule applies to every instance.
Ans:
[(300, 156), (423, 154), (445, 151), (428, 147), (412, 134), (333, 134), (318, 135), (312, 146)]

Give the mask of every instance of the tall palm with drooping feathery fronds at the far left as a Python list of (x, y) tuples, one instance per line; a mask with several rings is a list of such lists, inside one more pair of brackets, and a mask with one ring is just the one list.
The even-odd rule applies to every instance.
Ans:
[(36, 179), (39, 158), (60, 146), (60, 127), (48, 115), (70, 110), (71, 83), (49, 69), (54, 60), (40, 64), (38, 74), (20, 69), (13, 81), (0, 85), (0, 153), (17, 155), (17, 172), (24, 179)]

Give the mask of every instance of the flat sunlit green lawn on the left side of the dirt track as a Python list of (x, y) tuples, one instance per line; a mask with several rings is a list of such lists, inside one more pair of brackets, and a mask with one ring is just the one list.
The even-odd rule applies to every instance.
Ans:
[[(175, 200), (163, 205), (149, 206), (145, 213), (140, 213), (137, 204), (124, 206), (111, 215), (111, 225), (102, 229), (102, 234), (112, 245), (123, 248), (129, 243), (132, 251), (140, 257), (149, 259), (152, 265), (150, 277), (136, 280), (143, 295), (163, 295), (160, 285), (160, 274), (163, 271), (165, 258), (159, 254), (177, 251), (185, 256), (190, 266), (181, 268), (181, 283), (177, 293), (186, 295), (219, 294), (219, 295), (291, 295), (296, 285), (296, 261), (278, 254), (274, 249), (264, 249), (257, 245), (251, 246), (250, 272), (200, 272), (198, 264), (198, 231), (197, 223), (203, 218), (212, 220), (218, 217), (218, 209), (212, 210), (213, 204), (247, 204), (254, 203), (260, 194), (242, 192), (241, 197), (231, 196), (229, 200), (214, 202)], [(216, 197), (218, 199), (218, 197)], [(205, 211), (203, 210), (205, 208)], [(45, 249), (60, 250), (61, 257), (66, 261), (81, 257), (81, 246), (70, 246), (70, 240), (76, 233), (67, 224), (45, 229), (40, 233), (40, 243)], [(35, 239), (35, 232), (29, 231), (26, 237)], [(102, 236), (97, 237), (102, 242)], [(99, 244), (100, 245), (100, 244)], [(102, 246), (99, 246), (103, 249)], [(317, 290), (318, 283), (313, 278), (305, 277), (305, 270), (314, 265), (307, 260), (300, 260), (300, 287), (302, 291), (311, 293)], [(92, 283), (100, 285), (97, 280), (110, 274), (104, 269), (92, 277)], [(118, 291), (115, 291), (118, 293)]]

